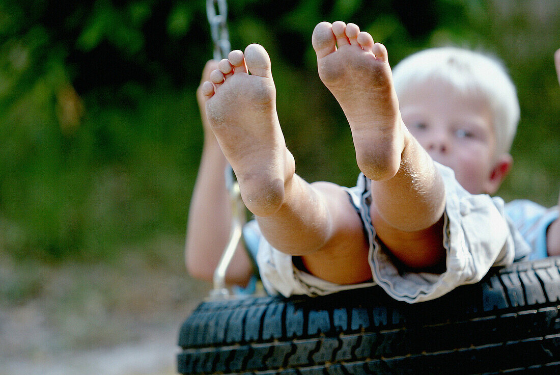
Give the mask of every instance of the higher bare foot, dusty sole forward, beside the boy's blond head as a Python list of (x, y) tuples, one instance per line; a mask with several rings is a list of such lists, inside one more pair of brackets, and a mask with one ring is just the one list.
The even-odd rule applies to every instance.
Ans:
[(385, 46), (341, 21), (315, 26), (312, 44), (319, 77), (350, 124), (360, 170), (372, 180), (394, 177), (404, 135)]

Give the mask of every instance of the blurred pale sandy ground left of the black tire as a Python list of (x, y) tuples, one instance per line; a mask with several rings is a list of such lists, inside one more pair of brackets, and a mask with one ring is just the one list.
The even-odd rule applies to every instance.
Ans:
[(180, 325), (209, 288), (180, 249), (94, 265), (0, 258), (0, 375), (175, 374)]

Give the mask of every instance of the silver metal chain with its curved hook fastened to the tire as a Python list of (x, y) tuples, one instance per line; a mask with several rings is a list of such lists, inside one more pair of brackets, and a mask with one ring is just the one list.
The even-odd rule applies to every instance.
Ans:
[[(217, 10), (217, 12), (216, 12)], [(227, 3), (226, 0), (206, 0), (206, 12), (214, 42), (214, 60), (220, 61), (226, 58), (231, 51), (230, 34), (227, 31)], [(226, 288), (226, 271), (230, 265), (237, 246), (242, 241), (242, 229), (245, 224), (245, 205), (241, 200), (239, 184), (231, 165), (225, 170), (226, 188), (230, 193), (231, 205), (231, 228), (230, 239), (223, 250), (222, 257), (214, 270), (214, 288), (210, 292), (209, 299), (219, 300), (230, 298), (230, 292)]]

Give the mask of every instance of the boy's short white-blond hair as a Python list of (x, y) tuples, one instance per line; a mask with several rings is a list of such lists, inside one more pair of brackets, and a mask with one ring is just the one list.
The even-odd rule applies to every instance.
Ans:
[(462, 94), (482, 96), (492, 113), (497, 155), (510, 151), (519, 122), (519, 100), (498, 59), (463, 48), (431, 48), (399, 62), (393, 78), (397, 96), (433, 80), (446, 82)]

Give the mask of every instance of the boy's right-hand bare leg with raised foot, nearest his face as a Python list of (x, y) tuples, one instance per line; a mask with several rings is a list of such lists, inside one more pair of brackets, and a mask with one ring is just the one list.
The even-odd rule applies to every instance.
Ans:
[(358, 26), (340, 21), (317, 25), (312, 43), (319, 76), (348, 119), (358, 166), (372, 179), (377, 235), (405, 264), (436, 265), (445, 254), (444, 187), (400, 118), (387, 50)]

